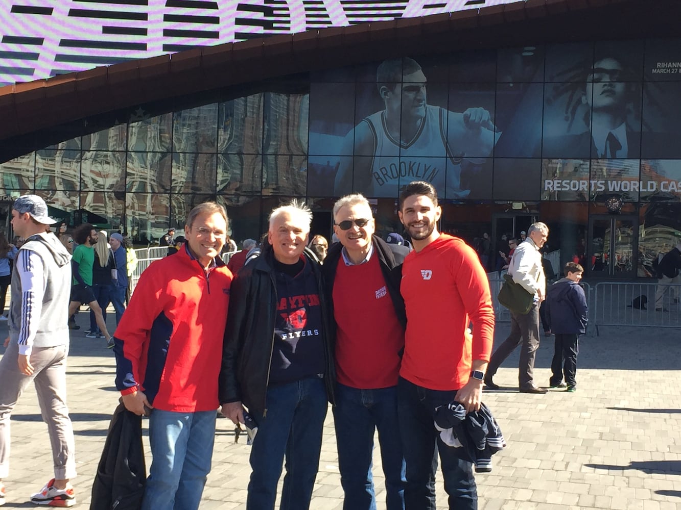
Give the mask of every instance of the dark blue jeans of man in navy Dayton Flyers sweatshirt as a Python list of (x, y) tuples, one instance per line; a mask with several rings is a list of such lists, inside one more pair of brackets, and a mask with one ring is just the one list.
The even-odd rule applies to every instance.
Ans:
[(266, 417), (253, 414), (248, 510), (274, 508), (276, 484), (286, 457), (281, 510), (307, 510), (319, 469), (321, 430), (328, 409), (323, 379), (308, 378), (267, 388)]

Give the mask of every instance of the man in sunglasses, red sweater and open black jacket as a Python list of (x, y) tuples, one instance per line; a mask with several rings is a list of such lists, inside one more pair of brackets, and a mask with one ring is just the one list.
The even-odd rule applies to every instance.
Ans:
[(397, 380), (407, 324), (400, 295), (405, 254), (393, 250), (405, 247), (383, 242), (374, 231), (371, 206), (361, 194), (336, 202), (334, 233), (340, 242), (332, 245), (322, 271), (336, 333), (338, 384), (333, 412), (345, 510), (377, 506), (371, 474), (377, 429), (385, 507), (405, 508), (405, 460), (396, 426)]

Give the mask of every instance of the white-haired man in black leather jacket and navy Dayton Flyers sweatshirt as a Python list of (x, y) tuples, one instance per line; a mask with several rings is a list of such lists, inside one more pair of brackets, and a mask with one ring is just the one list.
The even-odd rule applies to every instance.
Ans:
[(307, 254), (312, 212), (292, 201), (270, 214), (262, 253), (232, 282), (219, 376), (222, 412), (257, 424), (247, 509), (274, 508), (286, 458), (281, 507), (308, 509), (334, 362), (321, 267)]

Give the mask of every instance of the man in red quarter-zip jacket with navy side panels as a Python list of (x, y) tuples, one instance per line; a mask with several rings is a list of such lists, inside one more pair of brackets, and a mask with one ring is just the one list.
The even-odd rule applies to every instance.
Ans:
[(151, 413), (143, 510), (193, 510), (201, 502), (232, 286), (219, 257), (226, 235), (224, 207), (194, 207), (185, 225), (187, 243), (142, 273), (114, 334), (123, 404), (138, 415)]

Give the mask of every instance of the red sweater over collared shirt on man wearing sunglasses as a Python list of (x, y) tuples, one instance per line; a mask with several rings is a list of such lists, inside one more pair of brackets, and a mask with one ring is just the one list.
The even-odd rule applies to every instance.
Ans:
[(368, 262), (338, 260), (334, 279), (336, 377), (340, 384), (372, 390), (397, 384), (405, 331), (385, 287), (376, 252)]

